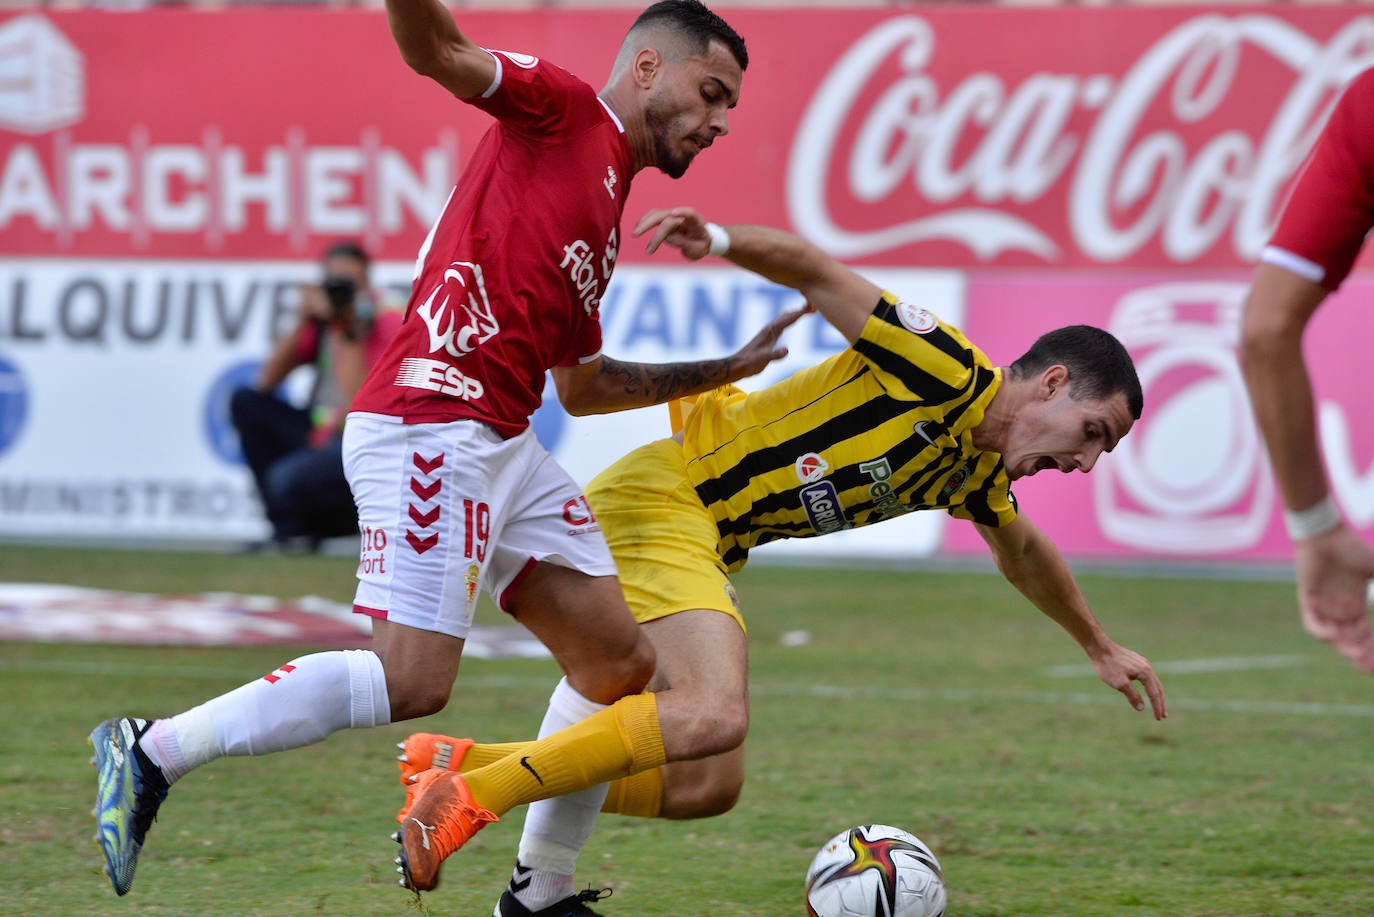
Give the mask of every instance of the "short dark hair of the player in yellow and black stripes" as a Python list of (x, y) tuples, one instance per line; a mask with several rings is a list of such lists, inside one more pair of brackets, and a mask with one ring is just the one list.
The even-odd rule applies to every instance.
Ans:
[(1145, 396), (1140, 377), (1121, 341), (1091, 324), (1070, 324), (1036, 338), (1011, 364), (1011, 378), (1025, 379), (1059, 364), (1069, 370), (1069, 397), (1101, 400), (1125, 395), (1131, 417), (1140, 419)]

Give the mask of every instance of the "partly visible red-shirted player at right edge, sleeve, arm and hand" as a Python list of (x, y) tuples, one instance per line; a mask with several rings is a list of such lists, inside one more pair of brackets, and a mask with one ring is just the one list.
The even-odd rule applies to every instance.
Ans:
[(1374, 227), (1371, 113), (1374, 70), (1366, 70), (1331, 113), (1260, 256), (1241, 323), (1241, 367), (1287, 507), (1303, 626), (1374, 672), (1374, 551), (1330, 496), (1303, 360), (1308, 320), (1345, 280)]

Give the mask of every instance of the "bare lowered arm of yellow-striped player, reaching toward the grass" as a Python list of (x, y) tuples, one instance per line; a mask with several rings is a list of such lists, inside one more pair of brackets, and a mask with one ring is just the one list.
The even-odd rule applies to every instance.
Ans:
[(978, 525), (977, 529), (992, 549), (998, 569), (1007, 582), (1059, 627), (1069, 631), (1088, 654), (1098, 678), (1125, 694), (1131, 707), (1145, 709), (1145, 701), (1132, 683), (1139, 682), (1150, 698), (1154, 719), (1164, 719), (1168, 715), (1164, 687), (1150, 661), (1107, 637), (1092, 616), (1059, 549), (1044, 532), (1025, 516), (1018, 516), (1010, 525), (1002, 528)]

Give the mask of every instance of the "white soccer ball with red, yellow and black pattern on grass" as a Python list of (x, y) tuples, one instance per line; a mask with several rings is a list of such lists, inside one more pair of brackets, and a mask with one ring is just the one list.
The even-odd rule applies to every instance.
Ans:
[(840, 832), (807, 870), (808, 917), (943, 917), (944, 905), (940, 861), (900, 828)]

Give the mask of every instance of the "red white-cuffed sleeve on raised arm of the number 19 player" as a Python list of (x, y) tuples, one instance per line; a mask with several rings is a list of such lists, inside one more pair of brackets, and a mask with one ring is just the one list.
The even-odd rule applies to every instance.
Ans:
[(491, 51), (496, 78), (470, 104), (526, 135), (580, 131), (602, 120), (596, 91), (567, 70), (514, 51)]

